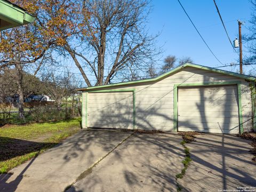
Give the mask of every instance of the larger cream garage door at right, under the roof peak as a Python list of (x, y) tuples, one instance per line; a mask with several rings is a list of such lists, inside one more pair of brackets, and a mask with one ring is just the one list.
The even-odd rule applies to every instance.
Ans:
[(179, 87), (178, 131), (239, 133), (237, 86)]

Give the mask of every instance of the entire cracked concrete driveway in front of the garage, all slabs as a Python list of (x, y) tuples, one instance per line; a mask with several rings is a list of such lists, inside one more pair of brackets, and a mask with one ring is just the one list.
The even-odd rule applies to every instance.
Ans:
[[(198, 135), (186, 144), (193, 162), (178, 179), (183, 191), (256, 186), (249, 142), (233, 135)], [(176, 133), (82, 130), (12, 174), (0, 191), (176, 191), (184, 158)], [(68, 187), (69, 186), (69, 187)]]

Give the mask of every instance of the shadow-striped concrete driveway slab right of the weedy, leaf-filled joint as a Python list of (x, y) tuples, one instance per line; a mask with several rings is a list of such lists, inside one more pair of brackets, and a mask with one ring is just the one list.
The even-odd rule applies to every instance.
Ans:
[(236, 191), (239, 187), (256, 191), (250, 142), (235, 135), (197, 135), (196, 142), (186, 144), (193, 161), (183, 179), (178, 179), (182, 191)]

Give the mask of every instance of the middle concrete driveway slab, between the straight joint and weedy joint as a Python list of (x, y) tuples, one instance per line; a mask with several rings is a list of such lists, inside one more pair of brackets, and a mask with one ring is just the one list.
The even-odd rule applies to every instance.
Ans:
[(175, 191), (183, 168), (178, 134), (134, 134), (68, 191)]

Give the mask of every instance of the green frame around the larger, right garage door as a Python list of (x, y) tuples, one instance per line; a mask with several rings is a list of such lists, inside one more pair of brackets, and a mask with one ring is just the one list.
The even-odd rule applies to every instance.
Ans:
[(238, 97), (238, 115), (239, 115), (239, 131), (242, 134), (243, 130), (243, 110), (242, 110), (242, 95), (241, 82), (212, 82), (212, 83), (188, 83), (188, 84), (174, 84), (173, 88), (173, 126), (174, 132), (178, 131), (178, 88), (179, 87), (193, 87), (193, 86), (214, 86), (214, 85), (237, 85)]

